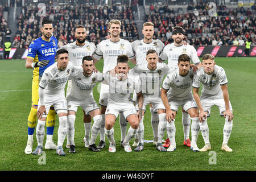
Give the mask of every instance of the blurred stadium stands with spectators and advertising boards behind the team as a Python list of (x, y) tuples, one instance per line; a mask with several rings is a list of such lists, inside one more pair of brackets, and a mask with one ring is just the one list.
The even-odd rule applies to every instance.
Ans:
[[(59, 47), (75, 41), (76, 24), (86, 26), (87, 40), (98, 45), (111, 19), (122, 21), (121, 38), (142, 39), (142, 25), (155, 24), (154, 39), (173, 42), (172, 27), (182, 26), (197, 53), (216, 57), (245, 56), (245, 42), (256, 55), (255, 1), (238, 0), (0, 0), (0, 59), (11, 42), (9, 59), (26, 59), (32, 40), (41, 36), (43, 17), (53, 21)], [(212, 6), (210, 3), (215, 3)]]

